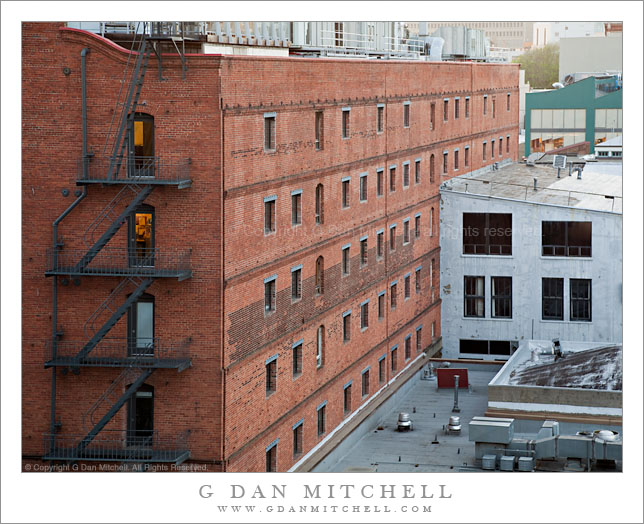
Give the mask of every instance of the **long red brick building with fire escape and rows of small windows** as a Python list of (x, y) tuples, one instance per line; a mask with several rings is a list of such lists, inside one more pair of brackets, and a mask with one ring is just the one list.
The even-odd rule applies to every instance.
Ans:
[(438, 186), (516, 159), (518, 65), (138, 56), (23, 25), (23, 460), (288, 470), (440, 349)]

